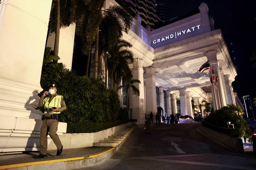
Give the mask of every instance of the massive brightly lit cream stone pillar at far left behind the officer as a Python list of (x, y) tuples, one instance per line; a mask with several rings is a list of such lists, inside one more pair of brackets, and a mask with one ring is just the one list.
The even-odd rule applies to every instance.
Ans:
[[(39, 149), (43, 113), (35, 108), (42, 91), (51, 2), (9, 0), (6, 7), (0, 27), (0, 152)], [(60, 122), (58, 134), (65, 133), (66, 127)]]

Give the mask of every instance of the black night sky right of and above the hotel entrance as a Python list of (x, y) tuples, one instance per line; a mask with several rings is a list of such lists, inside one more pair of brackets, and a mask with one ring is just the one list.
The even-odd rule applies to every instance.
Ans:
[(252, 99), (256, 96), (256, 69), (250, 61), (256, 49), (256, 0), (170, 0), (172, 16), (184, 16), (198, 9), (202, 2), (209, 7), (215, 29), (221, 29), (231, 57), (237, 59), (235, 91), (240, 97), (250, 95)]

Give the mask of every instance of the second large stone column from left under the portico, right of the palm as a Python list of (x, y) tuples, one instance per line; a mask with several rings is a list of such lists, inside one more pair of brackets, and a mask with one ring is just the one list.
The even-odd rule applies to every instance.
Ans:
[(156, 106), (156, 79), (155, 79), (155, 68), (152, 66), (146, 67), (146, 111), (147, 114), (157, 112)]

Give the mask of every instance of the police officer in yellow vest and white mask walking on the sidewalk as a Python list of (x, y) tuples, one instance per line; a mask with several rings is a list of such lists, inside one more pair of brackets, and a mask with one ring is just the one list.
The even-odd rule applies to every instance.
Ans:
[[(61, 155), (63, 145), (57, 135), (58, 129), (58, 114), (67, 109), (65, 101), (61, 95), (57, 95), (57, 87), (53, 84), (49, 91), (45, 91), (39, 100), (38, 106), (44, 106), (44, 115), (42, 116), (42, 126), (40, 132), (40, 154), (34, 158), (47, 157), (47, 135), (54, 141), (57, 147), (57, 156)], [(49, 128), (49, 130), (47, 129)]]

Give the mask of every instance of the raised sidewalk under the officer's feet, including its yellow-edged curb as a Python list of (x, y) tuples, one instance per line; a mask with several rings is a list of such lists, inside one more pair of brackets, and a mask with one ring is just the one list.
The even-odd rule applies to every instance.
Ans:
[(45, 170), (47, 168), (72, 170), (74, 167), (77, 169), (97, 165), (113, 156), (134, 129), (134, 127), (126, 128), (126, 132), (122, 132), (123, 138), (116, 143), (115, 147), (64, 149), (60, 156), (56, 156), (56, 150), (49, 150), (48, 157), (44, 159), (33, 158), (39, 154), (38, 151), (0, 155), (0, 170)]

